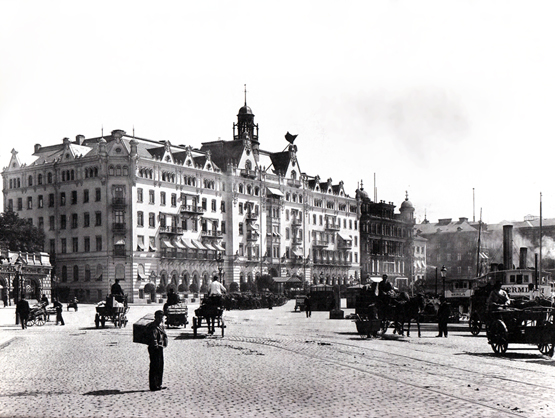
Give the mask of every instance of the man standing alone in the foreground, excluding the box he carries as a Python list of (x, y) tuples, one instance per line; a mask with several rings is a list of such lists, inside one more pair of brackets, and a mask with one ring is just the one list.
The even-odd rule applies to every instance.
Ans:
[(150, 356), (148, 383), (152, 391), (165, 389), (162, 386), (162, 377), (164, 375), (164, 347), (168, 346), (168, 336), (162, 325), (163, 319), (164, 311), (156, 311), (154, 321), (148, 324), (148, 354)]

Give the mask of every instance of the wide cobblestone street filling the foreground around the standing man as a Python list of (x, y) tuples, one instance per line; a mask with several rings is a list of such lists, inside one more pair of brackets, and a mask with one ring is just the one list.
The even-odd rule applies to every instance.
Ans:
[[(0, 414), (5, 417), (552, 417), (555, 361), (532, 346), (495, 356), (484, 333), (433, 324), (411, 337), (361, 339), (350, 320), (306, 318), (290, 301), (228, 311), (221, 338), (169, 329), (166, 390), (148, 390), (146, 346), (132, 323), (94, 326), (94, 306), (23, 331), (0, 310)], [(189, 320), (194, 315), (189, 305)], [(350, 313), (346, 310), (345, 313)], [(518, 348), (518, 349), (516, 349)]]

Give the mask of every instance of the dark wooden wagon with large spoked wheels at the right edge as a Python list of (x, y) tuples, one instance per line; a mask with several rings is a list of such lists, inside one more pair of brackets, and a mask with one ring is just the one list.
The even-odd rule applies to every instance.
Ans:
[(555, 325), (552, 306), (507, 307), (490, 311), (486, 331), (488, 343), (497, 354), (504, 354), (509, 344), (533, 344), (542, 354), (553, 356)]

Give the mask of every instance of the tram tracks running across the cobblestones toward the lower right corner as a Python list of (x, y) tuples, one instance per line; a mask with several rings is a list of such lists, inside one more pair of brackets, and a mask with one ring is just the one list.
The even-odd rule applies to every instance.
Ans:
[[(495, 374), (481, 373), (477, 370), (437, 363), (421, 359), (416, 356), (403, 355), (385, 350), (376, 350), (374, 348), (361, 347), (359, 345), (338, 342), (335, 340), (321, 340), (318, 338), (300, 340), (231, 336), (227, 337), (225, 341), (227, 341), (227, 343), (236, 342), (277, 348), (292, 354), (302, 355), (313, 360), (327, 362), (339, 367), (355, 370), (374, 378), (385, 379), (395, 383), (396, 385), (407, 385), (427, 393), (434, 393), (465, 402), (469, 405), (479, 405), (483, 408), (496, 412), (502, 412), (508, 416), (538, 416), (538, 414), (539, 416), (553, 415), (547, 413), (550, 410), (549, 404), (551, 404), (550, 399), (552, 398), (550, 394), (555, 391), (555, 388), (552, 386), (547, 387), (547, 392), (550, 393), (540, 393), (539, 389), (545, 392), (546, 387), (533, 382), (511, 379), (502, 375), (496, 376)], [(313, 349), (314, 347), (317, 347), (317, 349)], [(375, 356), (368, 355), (368, 350), (371, 350), (372, 354), (379, 353), (383, 357), (376, 358)], [(397, 361), (391, 362), (392, 358)], [(387, 360), (386, 363), (384, 363), (385, 360)], [(413, 362), (414, 364), (423, 365), (423, 367), (415, 367), (414, 364), (409, 365), (403, 362)], [(500, 367), (498, 364), (493, 365), (493, 362), (491, 362), (490, 365), (492, 367)], [(399, 376), (395, 376), (395, 374), (399, 373), (391, 373), (392, 367), (397, 368), (403, 377), (401, 378)], [(440, 370), (433, 371), (427, 369), (428, 367), (435, 367)], [(529, 370), (527, 372), (530, 373)], [(478, 379), (473, 379), (468, 375), (477, 377)], [(451, 382), (451, 384), (438, 384), (440, 380), (445, 381), (445, 379)], [(476, 380), (478, 380), (478, 383)], [(435, 384), (434, 381), (436, 381)], [(503, 382), (504, 384), (500, 385), (499, 382)], [(520, 396), (518, 394), (518, 389), (505, 388), (504, 386), (508, 384), (513, 386), (525, 385), (528, 388), (526, 390), (526, 396)], [(460, 394), (453, 393), (452, 390), (442, 389), (442, 387), (458, 387), (460, 388)], [(533, 394), (530, 395), (530, 393)], [(501, 396), (496, 396), (496, 394)], [(476, 397), (480, 397), (482, 400), (477, 400)], [(518, 403), (520, 405), (502, 405), (502, 401), (496, 402), (495, 399), (511, 399), (512, 403)], [(541, 411), (530, 410), (530, 408), (533, 408), (534, 404), (535, 406), (543, 404), (545, 409)]]

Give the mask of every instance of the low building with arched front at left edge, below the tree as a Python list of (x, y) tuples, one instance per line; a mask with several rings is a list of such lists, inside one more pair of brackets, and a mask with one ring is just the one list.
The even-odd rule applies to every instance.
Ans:
[(0, 294), (7, 304), (26, 299), (52, 299), (52, 266), (48, 253), (0, 251)]

